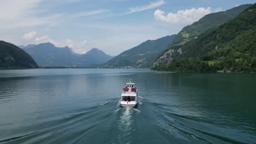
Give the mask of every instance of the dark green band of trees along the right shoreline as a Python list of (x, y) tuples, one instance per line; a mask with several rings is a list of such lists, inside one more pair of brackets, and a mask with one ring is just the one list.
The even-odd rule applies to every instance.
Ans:
[(183, 58), (173, 59), (168, 65), (158, 65), (152, 70), (179, 70), (179, 71), (197, 71), (197, 72), (217, 72), (223, 70), (235, 72), (256, 72), (256, 57), (243, 57), (239, 61), (234, 58), (226, 57), (221, 61), (208, 63), (201, 58)]

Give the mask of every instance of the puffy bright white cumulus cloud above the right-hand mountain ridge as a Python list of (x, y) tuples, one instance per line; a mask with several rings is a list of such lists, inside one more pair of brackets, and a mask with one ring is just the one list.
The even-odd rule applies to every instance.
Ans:
[(211, 7), (178, 10), (177, 13), (168, 13), (166, 16), (165, 11), (156, 10), (154, 17), (156, 21), (164, 23), (193, 23), (210, 13)]

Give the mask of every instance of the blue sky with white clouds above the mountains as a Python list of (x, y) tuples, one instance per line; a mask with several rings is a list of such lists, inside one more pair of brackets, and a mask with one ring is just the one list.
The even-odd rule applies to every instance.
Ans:
[(115, 56), (146, 40), (177, 34), (204, 15), (256, 0), (0, 0), (0, 40), (53, 43)]

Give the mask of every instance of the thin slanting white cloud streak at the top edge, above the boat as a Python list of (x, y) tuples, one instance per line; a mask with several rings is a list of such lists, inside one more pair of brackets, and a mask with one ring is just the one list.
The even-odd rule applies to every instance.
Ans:
[(141, 7), (130, 8), (130, 11), (128, 13), (131, 14), (131, 13), (135, 13), (138, 11), (153, 9), (153, 8), (159, 7), (160, 5), (163, 5), (163, 4), (165, 4), (164, 0), (156, 1), (154, 3), (149, 3), (148, 5), (143, 5)]

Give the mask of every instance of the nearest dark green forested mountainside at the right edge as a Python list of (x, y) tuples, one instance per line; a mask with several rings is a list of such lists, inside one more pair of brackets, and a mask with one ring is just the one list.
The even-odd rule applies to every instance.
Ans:
[(256, 3), (235, 19), (173, 49), (172, 62), (156, 70), (256, 72)]

